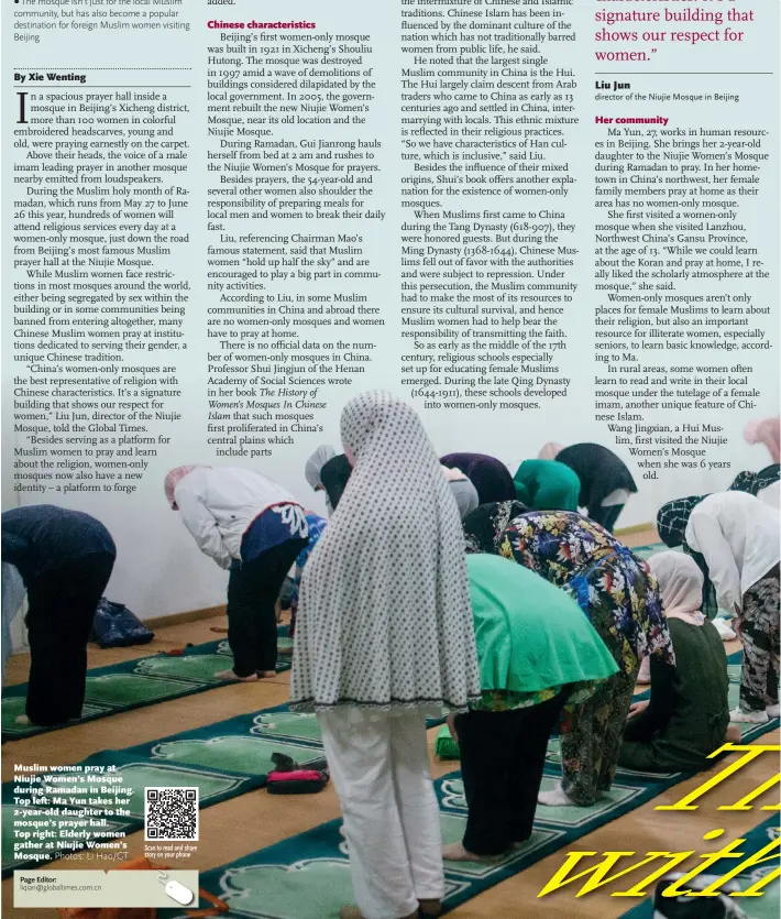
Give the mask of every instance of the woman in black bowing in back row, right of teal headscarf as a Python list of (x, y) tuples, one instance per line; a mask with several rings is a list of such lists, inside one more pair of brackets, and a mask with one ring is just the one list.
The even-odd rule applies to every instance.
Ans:
[(600, 444), (573, 444), (571, 447), (546, 444), (539, 458), (569, 466), (581, 483), (579, 506), (585, 507), (595, 523), (613, 533), (624, 505), (637, 491), (626, 463)]

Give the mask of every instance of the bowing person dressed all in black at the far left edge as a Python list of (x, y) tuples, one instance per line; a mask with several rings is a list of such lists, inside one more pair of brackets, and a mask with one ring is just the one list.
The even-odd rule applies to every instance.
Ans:
[(28, 591), (30, 679), (18, 721), (48, 727), (78, 719), (92, 620), (117, 558), (111, 534), (78, 511), (14, 507), (2, 515), (2, 557)]

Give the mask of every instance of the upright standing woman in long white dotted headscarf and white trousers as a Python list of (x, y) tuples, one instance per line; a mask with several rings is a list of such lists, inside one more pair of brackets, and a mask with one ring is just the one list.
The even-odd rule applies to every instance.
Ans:
[(318, 713), (342, 806), (358, 904), (342, 919), (436, 916), (426, 716), (480, 697), (461, 522), (413, 408), (362, 393), (341, 430), (353, 471), (304, 569), (290, 708)]

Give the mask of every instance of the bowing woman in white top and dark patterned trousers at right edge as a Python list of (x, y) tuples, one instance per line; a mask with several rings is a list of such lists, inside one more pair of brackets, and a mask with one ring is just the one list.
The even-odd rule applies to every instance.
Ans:
[(779, 714), (779, 526), (778, 511), (739, 491), (669, 502), (657, 516), (664, 544), (698, 554), (718, 604), (736, 614), (744, 661), (734, 722)]

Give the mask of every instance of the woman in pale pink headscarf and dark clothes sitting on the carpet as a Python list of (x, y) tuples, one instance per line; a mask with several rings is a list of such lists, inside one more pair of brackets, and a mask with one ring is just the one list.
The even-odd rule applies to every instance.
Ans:
[[(618, 765), (647, 773), (700, 770), (729, 726), (727, 656), (716, 627), (701, 612), (703, 576), (683, 553), (648, 562), (664, 604), (675, 664), (650, 659), (650, 701), (635, 702)], [(735, 727), (729, 740), (740, 740)]]

